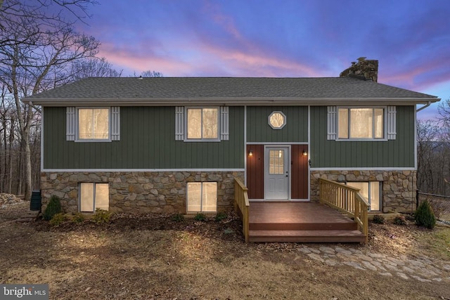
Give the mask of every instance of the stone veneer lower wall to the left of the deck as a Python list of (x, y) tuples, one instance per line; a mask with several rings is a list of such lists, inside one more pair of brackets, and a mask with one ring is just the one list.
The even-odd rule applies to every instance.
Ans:
[(109, 183), (110, 211), (126, 213), (186, 213), (186, 183), (217, 182), (217, 211), (233, 208), (234, 178), (240, 171), (168, 172), (41, 172), (42, 209), (51, 195), (61, 199), (66, 213), (79, 211), (79, 183)]

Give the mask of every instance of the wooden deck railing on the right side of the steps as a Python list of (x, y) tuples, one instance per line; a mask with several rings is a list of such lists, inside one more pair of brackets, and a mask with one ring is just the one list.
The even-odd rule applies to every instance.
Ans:
[(359, 188), (320, 178), (320, 202), (328, 204), (351, 216), (358, 223), (368, 242), (369, 204), (359, 193)]

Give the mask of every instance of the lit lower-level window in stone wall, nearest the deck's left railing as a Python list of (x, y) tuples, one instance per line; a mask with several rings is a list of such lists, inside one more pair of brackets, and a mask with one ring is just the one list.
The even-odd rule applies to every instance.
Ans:
[(188, 212), (217, 211), (217, 182), (191, 182), (187, 187)]

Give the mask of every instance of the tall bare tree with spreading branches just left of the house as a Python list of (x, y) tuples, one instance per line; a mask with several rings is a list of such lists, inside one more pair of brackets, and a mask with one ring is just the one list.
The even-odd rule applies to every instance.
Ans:
[(72, 26), (86, 16), (86, 6), (93, 3), (91, 0), (6, 0), (1, 6), (0, 81), (15, 103), (25, 199), (30, 199), (32, 190), (30, 131), (36, 124), (36, 111), (32, 103), (23, 105), (20, 100), (66, 83), (72, 76), (72, 63), (96, 55), (98, 41), (75, 32)]

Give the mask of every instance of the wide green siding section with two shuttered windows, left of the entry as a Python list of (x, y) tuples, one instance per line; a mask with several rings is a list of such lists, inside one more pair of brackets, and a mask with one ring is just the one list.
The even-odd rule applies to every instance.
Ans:
[(243, 169), (244, 108), (229, 141), (175, 141), (175, 107), (121, 107), (120, 141), (66, 141), (65, 107), (44, 107), (44, 169)]

